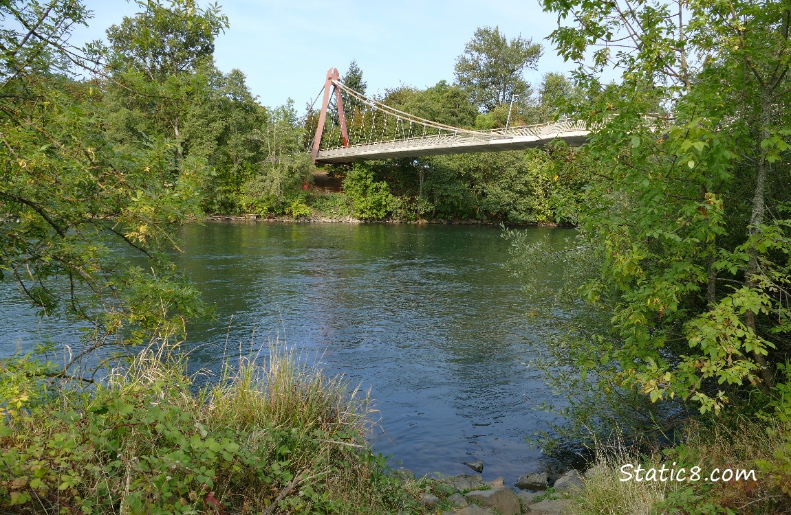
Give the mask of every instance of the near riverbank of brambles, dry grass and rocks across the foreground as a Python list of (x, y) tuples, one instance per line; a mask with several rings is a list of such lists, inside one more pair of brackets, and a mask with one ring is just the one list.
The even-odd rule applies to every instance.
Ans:
[[(641, 456), (621, 445), (584, 474), (526, 473), (513, 487), (471, 473), (415, 478), (373, 453), (370, 399), (342, 378), (272, 348), (263, 367), (242, 359), (197, 387), (177, 350), (148, 348), (90, 385), (55, 380), (54, 367), (27, 358), (0, 362), (4, 513), (648, 515), (787, 507), (785, 496), (768, 494), (777, 478), (760, 470), (782, 442), (756, 438), (765, 428), (748, 420), (693, 428), (676, 453)], [(623, 479), (623, 463), (648, 471), (671, 460), (676, 472), (759, 470), (721, 482), (661, 481), (648, 472), (642, 481)]]

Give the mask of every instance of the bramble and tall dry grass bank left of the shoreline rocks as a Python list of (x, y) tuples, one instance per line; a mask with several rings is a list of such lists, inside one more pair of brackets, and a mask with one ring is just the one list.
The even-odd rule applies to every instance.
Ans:
[(421, 513), (341, 378), (286, 351), (204, 388), (183, 372), (164, 349), (93, 384), (3, 363), (4, 513)]

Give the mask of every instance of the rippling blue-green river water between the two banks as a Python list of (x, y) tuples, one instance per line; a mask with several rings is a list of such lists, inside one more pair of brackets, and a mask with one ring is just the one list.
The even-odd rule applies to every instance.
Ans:
[[(568, 245), (573, 231), (524, 229)], [(191, 368), (270, 341), (370, 389), (379, 410), (377, 451), (417, 474), (471, 472), (513, 483), (543, 467), (525, 437), (546, 430), (536, 409), (559, 399), (530, 366), (548, 329), (528, 323), (528, 301), (503, 269), (509, 242), (497, 227), (436, 224), (190, 224), (176, 261), (217, 306), (194, 325)], [(0, 295), (0, 355), (76, 329)]]

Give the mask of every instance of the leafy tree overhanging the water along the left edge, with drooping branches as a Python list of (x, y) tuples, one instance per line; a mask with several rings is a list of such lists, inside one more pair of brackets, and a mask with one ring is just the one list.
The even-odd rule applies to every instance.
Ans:
[(66, 43), (87, 19), (84, 6), (4, 2), (0, 16), (13, 27), (0, 32), (0, 273), (42, 314), (87, 325), (66, 369), (106, 343), (183, 334), (202, 307), (163, 251), (172, 250), (174, 224), (196, 211), (204, 164), (184, 160), (165, 186), (152, 176), (172, 168), (167, 141), (119, 148), (108, 140), (97, 82), (66, 75), (65, 63), (89, 61)]

